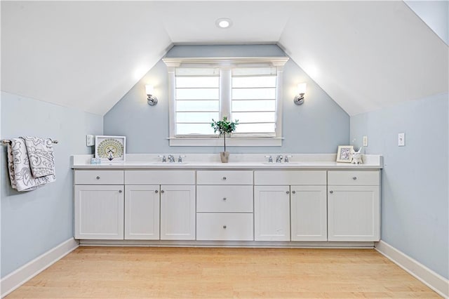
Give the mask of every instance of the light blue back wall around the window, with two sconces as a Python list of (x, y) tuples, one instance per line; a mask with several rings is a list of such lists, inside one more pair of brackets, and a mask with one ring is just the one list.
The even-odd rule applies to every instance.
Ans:
[[(166, 57), (286, 56), (275, 45), (175, 46)], [(295, 87), (307, 82), (306, 102), (293, 103)], [(158, 105), (147, 105), (145, 84)], [(168, 74), (159, 61), (104, 117), (105, 135), (126, 135), (128, 153), (217, 153), (222, 147), (168, 145)], [(349, 116), (293, 60), (283, 70), (282, 147), (229, 147), (234, 153), (334, 153), (349, 142)]]

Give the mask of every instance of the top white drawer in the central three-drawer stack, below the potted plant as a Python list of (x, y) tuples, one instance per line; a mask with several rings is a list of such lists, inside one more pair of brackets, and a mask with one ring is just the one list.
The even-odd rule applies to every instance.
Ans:
[(253, 185), (253, 171), (198, 171), (198, 185)]

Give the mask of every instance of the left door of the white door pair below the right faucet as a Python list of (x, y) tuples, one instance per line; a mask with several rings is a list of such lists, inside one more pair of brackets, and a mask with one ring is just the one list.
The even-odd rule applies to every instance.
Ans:
[(255, 241), (290, 241), (290, 186), (254, 187)]

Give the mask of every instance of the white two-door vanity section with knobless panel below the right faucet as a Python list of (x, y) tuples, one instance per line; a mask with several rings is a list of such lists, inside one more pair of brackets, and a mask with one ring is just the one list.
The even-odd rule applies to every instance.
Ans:
[(326, 171), (255, 171), (256, 241), (326, 241)]

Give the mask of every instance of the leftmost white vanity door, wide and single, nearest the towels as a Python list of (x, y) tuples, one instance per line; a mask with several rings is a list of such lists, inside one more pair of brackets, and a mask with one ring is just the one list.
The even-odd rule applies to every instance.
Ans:
[(123, 240), (123, 185), (75, 185), (75, 239)]

